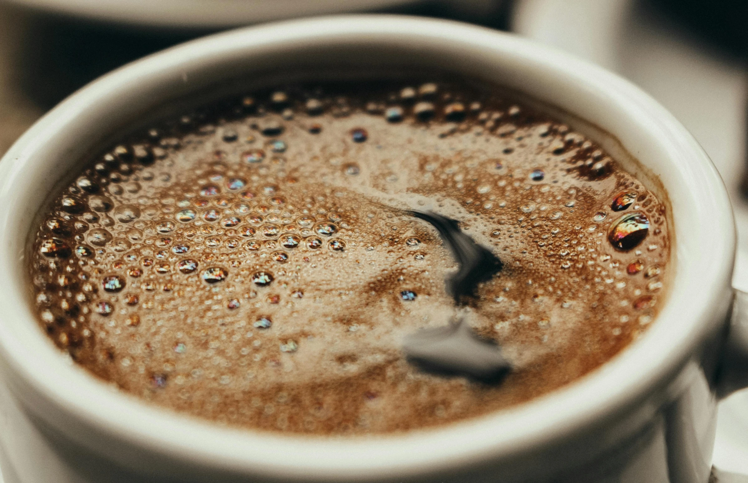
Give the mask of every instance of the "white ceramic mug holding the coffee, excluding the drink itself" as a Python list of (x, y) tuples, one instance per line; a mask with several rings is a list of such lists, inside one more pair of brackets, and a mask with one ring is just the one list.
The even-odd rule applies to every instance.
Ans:
[[(335, 438), (170, 413), (110, 389), (53, 347), (32, 309), (24, 253), (34, 215), (85, 154), (154, 106), (233, 79), (359, 68), (439, 69), (506, 85), (584, 119), (568, 122), (613, 154), (628, 151), (638, 160), (628, 168), (644, 180), (659, 177), (672, 204), (676, 275), (644, 335), (591, 374), (509, 410)], [(734, 249), (722, 180), (693, 137), (633, 85), (561, 52), (402, 16), (306, 19), (186, 43), (73, 94), (0, 162), (2, 469), (7, 483), (706, 483), (718, 395), (748, 374), (748, 304), (728, 337)]]

